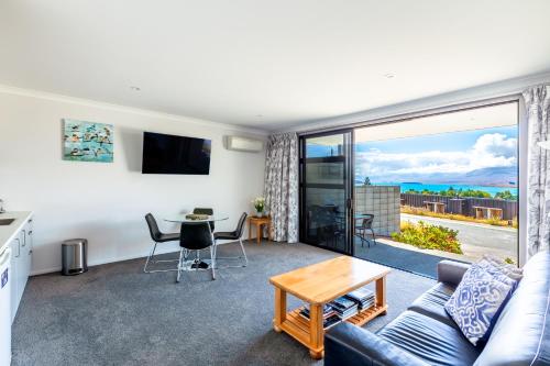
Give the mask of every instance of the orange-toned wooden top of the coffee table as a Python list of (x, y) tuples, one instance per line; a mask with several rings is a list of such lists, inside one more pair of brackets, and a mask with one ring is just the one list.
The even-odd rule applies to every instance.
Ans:
[(309, 303), (327, 303), (386, 276), (389, 271), (385, 266), (340, 256), (273, 276), (270, 282)]

